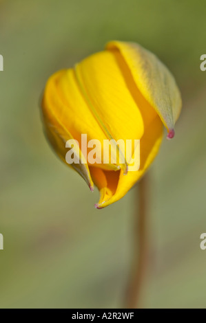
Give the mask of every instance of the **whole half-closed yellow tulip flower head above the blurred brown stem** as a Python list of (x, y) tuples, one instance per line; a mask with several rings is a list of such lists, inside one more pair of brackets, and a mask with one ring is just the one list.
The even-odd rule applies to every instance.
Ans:
[[(136, 43), (112, 41), (105, 50), (85, 58), (74, 68), (52, 75), (42, 102), (45, 131), (54, 151), (66, 163), (68, 148), (79, 164), (70, 165), (90, 190), (99, 188), (96, 208), (121, 199), (143, 177), (163, 139), (174, 137), (181, 111), (181, 94), (174, 77), (158, 58)], [(91, 164), (81, 148), (81, 135), (99, 140), (96, 161)], [(79, 146), (67, 146), (76, 140)], [(119, 160), (103, 164), (104, 140), (140, 140), (140, 167), (130, 171), (130, 161), (116, 145)], [(134, 157), (135, 147), (132, 156)], [(66, 163), (67, 164), (67, 163)], [(129, 170), (128, 170), (129, 169)], [(128, 171), (127, 171), (128, 170)]]

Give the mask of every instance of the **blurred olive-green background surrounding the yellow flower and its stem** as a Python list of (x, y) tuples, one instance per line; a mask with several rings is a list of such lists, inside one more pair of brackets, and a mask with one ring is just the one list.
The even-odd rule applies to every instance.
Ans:
[[(143, 307), (206, 308), (205, 1), (0, 1), (1, 308), (121, 307), (136, 189), (105, 210), (43, 135), (48, 77), (107, 41), (136, 41), (172, 70), (183, 95), (176, 137), (150, 170), (150, 275)], [(166, 135), (166, 134), (165, 134)]]

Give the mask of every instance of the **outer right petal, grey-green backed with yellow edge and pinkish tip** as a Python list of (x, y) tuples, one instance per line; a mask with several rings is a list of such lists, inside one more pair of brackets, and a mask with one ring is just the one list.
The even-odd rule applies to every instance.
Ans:
[(173, 137), (182, 102), (176, 81), (167, 67), (154, 54), (136, 43), (112, 41), (106, 48), (121, 53), (138, 89), (160, 116), (169, 132), (168, 137)]

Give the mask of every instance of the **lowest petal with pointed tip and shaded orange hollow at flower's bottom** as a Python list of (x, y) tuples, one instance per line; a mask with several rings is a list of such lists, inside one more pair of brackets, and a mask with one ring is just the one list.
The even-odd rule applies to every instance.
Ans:
[(100, 199), (96, 208), (105, 208), (119, 199), (134, 186), (136, 181), (147, 171), (150, 164), (158, 153), (159, 146), (163, 140), (163, 124), (158, 117), (152, 121), (150, 128), (145, 131), (140, 142), (140, 168), (139, 170), (127, 172), (127, 175), (123, 175), (123, 172), (107, 172), (104, 170), (94, 170), (90, 168), (92, 179), (95, 185), (99, 188)]

